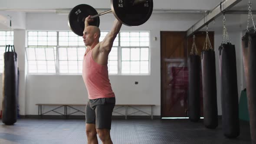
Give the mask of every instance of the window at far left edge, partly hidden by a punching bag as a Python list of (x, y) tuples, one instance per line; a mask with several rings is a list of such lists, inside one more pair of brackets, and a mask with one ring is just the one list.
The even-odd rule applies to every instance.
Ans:
[(0, 73), (3, 73), (3, 53), (6, 45), (13, 45), (13, 31), (0, 31)]

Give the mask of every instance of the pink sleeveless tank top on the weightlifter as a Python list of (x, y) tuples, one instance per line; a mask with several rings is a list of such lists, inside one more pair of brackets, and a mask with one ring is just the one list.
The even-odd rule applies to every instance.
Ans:
[(92, 50), (84, 55), (82, 77), (89, 99), (115, 97), (108, 79), (108, 65), (99, 65), (95, 62), (92, 59)]

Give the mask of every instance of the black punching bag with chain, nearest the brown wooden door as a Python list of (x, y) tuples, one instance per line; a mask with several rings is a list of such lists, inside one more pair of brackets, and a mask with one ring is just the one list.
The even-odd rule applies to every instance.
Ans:
[(200, 120), (200, 56), (194, 42), (188, 59), (189, 87), (188, 87), (188, 117), (190, 121)]

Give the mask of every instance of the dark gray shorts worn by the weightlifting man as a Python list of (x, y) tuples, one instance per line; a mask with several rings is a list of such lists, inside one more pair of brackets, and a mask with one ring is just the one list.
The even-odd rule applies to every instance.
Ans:
[(87, 124), (96, 124), (96, 129), (111, 129), (115, 98), (89, 99), (85, 109)]

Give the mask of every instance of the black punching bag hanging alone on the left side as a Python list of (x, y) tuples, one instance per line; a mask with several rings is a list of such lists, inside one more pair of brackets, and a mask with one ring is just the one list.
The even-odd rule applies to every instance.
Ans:
[(3, 116), (2, 122), (12, 125), (17, 121), (17, 54), (14, 46), (7, 46), (4, 53), (3, 71)]

